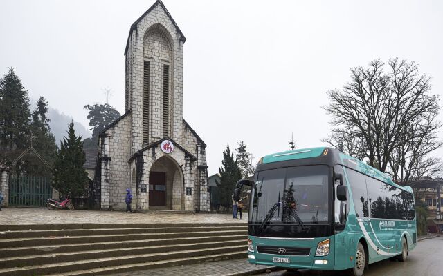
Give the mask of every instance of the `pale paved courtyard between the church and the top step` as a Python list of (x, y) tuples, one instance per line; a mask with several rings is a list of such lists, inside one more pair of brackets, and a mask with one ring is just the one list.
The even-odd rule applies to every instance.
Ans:
[(123, 213), (98, 210), (48, 210), (46, 208), (3, 208), (1, 224), (130, 224), (130, 223), (239, 223), (230, 214), (208, 213)]

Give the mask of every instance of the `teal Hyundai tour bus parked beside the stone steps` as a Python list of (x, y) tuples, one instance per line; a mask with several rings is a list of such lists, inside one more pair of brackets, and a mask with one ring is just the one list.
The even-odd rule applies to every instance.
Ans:
[(251, 186), (248, 261), (288, 270), (347, 270), (404, 262), (417, 244), (413, 190), (334, 148), (266, 155)]

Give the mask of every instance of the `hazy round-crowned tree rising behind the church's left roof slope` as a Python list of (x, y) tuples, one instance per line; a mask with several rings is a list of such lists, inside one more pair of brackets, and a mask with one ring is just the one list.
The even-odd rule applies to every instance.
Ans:
[(93, 106), (88, 104), (87, 106), (84, 106), (84, 109), (89, 110), (89, 126), (91, 126), (92, 130), (92, 137), (84, 139), (84, 148), (96, 148), (100, 131), (104, 130), (107, 126), (118, 119), (118, 117), (120, 117), (120, 112), (118, 112), (108, 103), (96, 103)]

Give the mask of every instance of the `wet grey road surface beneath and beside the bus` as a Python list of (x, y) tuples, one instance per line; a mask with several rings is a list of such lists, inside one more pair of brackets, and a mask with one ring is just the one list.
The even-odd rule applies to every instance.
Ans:
[[(302, 270), (289, 273), (286, 270), (260, 275), (268, 276), (338, 276), (341, 272)], [(370, 264), (363, 276), (442, 276), (443, 275), (443, 237), (424, 239), (410, 251), (407, 262), (385, 260)]]

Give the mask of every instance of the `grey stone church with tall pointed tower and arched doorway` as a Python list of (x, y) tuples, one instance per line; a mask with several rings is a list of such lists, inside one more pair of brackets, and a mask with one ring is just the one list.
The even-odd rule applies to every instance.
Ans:
[(183, 119), (186, 38), (161, 1), (129, 30), (125, 114), (100, 132), (95, 186), (101, 209), (209, 211), (206, 144)]

